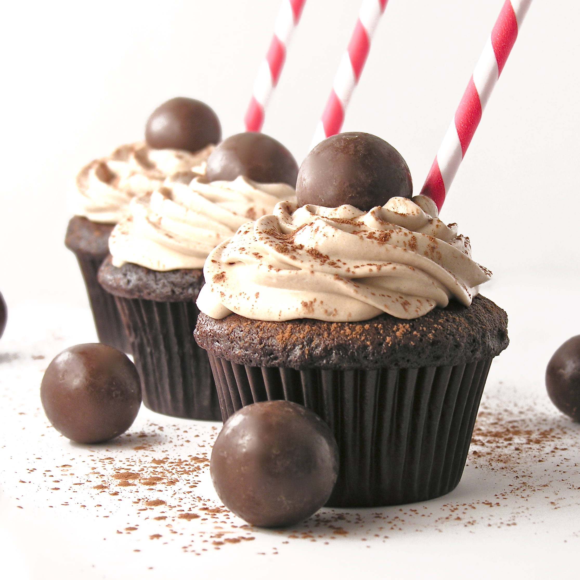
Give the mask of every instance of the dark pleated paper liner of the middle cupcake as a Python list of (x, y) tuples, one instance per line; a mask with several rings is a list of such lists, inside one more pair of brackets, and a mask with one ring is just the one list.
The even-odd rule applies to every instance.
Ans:
[(173, 417), (220, 420), (208, 356), (193, 338), (199, 313), (195, 302), (115, 300), (141, 376), (145, 406)]

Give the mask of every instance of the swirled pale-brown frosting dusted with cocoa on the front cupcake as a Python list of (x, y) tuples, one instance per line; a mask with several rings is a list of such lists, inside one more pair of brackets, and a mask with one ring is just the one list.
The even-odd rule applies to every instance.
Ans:
[(197, 305), (213, 318), (345, 322), (417, 318), (451, 297), (468, 306), (491, 273), (456, 224), (393, 197), (366, 213), (281, 202), (216, 247), (204, 276)]

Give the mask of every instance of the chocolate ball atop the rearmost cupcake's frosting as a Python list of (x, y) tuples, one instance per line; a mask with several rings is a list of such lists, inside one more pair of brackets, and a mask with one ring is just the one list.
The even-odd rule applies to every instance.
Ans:
[(145, 128), (145, 140), (155, 149), (195, 152), (221, 138), (218, 115), (205, 103), (187, 97), (175, 97), (157, 107)]

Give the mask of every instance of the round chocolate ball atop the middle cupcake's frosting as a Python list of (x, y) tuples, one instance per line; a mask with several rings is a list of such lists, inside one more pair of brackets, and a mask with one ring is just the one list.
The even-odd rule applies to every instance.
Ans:
[(238, 133), (224, 139), (209, 155), (209, 181), (233, 181), (244, 175), (259, 183), (296, 186), (298, 164), (292, 153), (264, 133)]

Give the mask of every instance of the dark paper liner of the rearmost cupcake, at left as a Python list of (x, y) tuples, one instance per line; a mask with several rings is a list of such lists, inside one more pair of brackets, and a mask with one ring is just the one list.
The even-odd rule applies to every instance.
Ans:
[(75, 252), (75, 256), (77, 256), (78, 265), (85, 280), (99, 342), (113, 346), (124, 353), (131, 353), (129, 337), (115, 304), (115, 298), (104, 291), (97, 281), (97, 272), (107, 254), (94, 256)]

